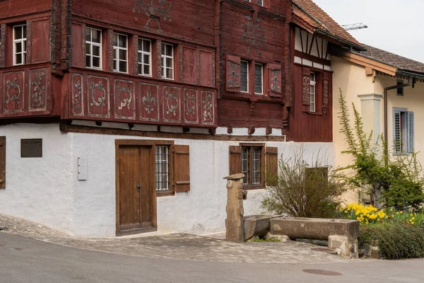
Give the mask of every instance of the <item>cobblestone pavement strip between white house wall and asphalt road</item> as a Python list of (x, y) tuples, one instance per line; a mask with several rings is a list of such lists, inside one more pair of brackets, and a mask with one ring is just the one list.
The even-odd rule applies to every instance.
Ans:
[(73, 238), (42, 224), (1, 214), (0, 227), (6, 228), (3, 231), (5, 233), (18, 233), (29, 238), (37, 238), (64, 246), (147, 258), (288, 264), (354, 261), (311, 250), (317, 246), (295, 241), (230, 243), (218, 238), (184, 233), (139, 238)]

